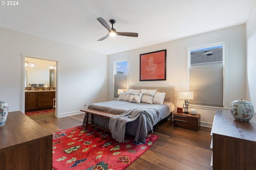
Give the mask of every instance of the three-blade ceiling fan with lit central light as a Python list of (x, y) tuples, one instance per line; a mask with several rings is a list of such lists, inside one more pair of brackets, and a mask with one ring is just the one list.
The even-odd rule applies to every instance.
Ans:
[(100, 38), (97, 41), (102, 41), (106, 38), (108, 38), (109, 36), (128, 36), (128, 37), (138, 37), (138, 33), (134, 33), (134, 32), (116, 32), (116, 30), (113, 28), (113, 24), (115, 24), (115, 20), (109, 20), (110, 24), (112, 24), (112, 28), (110, 28), (110, 26), (107, 24), (107, 22), (103, 19), (103, 18), (97, 18), (97, 20), (100, 22), (100, 24), (102, 24), (107, 30), (108, 30), (108, 35)]

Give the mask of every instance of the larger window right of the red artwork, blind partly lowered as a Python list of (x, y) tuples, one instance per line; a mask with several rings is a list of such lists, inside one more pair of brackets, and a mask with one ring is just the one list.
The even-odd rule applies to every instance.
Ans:
[(190, 105), (224, 107), (224, 43), (188, 49)]

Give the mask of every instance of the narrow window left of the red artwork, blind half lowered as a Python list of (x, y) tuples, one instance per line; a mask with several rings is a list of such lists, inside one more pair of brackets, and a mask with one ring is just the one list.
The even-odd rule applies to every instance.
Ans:
[(114, 97), (119, 97), (118, 89), (127, 89), (127, 60), (114, 61)]

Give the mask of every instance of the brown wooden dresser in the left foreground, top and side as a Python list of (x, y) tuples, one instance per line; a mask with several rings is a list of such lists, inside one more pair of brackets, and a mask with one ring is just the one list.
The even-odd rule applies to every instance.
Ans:
[(52, 170), (52, 133), (20, 111), (0, 127), (1, 170)]

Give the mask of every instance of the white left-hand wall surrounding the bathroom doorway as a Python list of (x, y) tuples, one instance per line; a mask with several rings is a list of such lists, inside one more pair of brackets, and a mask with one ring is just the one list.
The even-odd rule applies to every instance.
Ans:
[(80, 113), (107, 99), (108, 57), (92, 51), (0, 28), (0, 100), (9, 111), (22, 110), (22, 53), (57, 61), (58, 116)]

